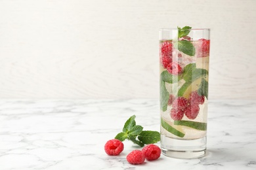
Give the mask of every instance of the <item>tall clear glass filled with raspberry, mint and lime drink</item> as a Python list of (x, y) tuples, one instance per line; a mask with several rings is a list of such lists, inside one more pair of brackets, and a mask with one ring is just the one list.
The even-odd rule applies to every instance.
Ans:
[(160, 29), (161, 150), (172, 158), (205, 155), (209, 29)]

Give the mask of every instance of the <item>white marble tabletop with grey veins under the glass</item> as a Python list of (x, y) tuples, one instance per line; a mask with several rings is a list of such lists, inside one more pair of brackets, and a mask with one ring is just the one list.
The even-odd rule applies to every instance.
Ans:
[(210, 102), (203, 158), (131, 165), (126, 155), (138, 147), (130, 141), (119, 156), (104, 152), (133, 114), (159, 130), (158, 110), (154, 99), (1, 100), (0, 169), (256, 169), (256, 101)]

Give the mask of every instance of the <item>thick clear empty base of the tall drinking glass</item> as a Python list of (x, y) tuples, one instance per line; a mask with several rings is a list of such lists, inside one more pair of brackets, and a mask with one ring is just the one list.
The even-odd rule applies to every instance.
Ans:
[(161, 135), (161, 151), (171, 158), (200, 158), (206, 153), (206, 136), (200, 139), (181, 140)]

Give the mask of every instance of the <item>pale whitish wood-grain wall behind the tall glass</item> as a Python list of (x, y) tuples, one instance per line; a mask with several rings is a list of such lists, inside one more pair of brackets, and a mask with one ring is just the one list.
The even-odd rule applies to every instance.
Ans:
[(256, 99), (255, 0), (0, 0), (0, 98), (158, 98), (158, 30), (211, 28), (210, 99)]

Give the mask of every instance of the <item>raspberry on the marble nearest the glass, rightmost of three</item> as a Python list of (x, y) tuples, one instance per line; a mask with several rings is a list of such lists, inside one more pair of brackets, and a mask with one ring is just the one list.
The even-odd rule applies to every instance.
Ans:
[(146, 160), (157, 160), (160, 158), (161, 149), (155, 144), (148, 144), (144, 148), (142, 148), (142, 152), (144, 152)]

